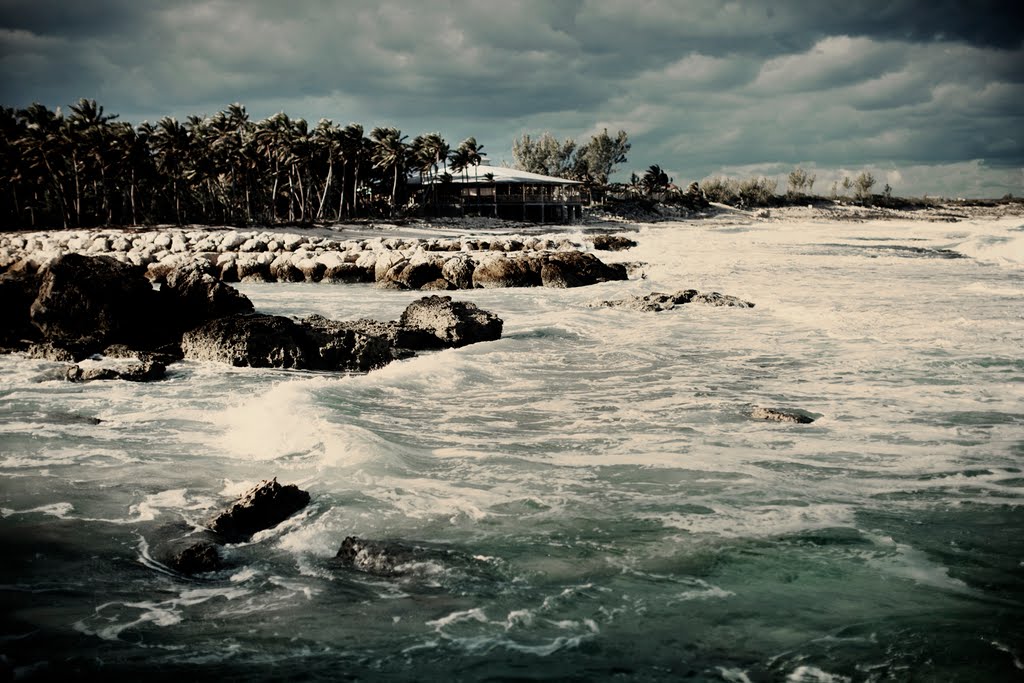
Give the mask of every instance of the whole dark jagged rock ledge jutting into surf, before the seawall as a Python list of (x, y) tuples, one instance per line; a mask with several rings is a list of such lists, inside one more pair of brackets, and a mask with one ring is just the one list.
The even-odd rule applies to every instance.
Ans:
[(181, 357), (367, 372), (421, 350), (500, 339), (503, 326), (472, 303), (436, 295), (391, 322), (265, 315), (201, 269), (168, 272), (156, 290), (138, 267), (79, 254), (38, 272), (24, 264), (0, 274), (0, 348), (75, 364), (66, 370), (72, 381), (160, 379)]

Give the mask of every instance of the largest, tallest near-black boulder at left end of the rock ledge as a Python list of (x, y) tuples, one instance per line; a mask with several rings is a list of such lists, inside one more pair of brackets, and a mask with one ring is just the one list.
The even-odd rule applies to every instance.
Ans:
[(156, 291), (133, 266), (109, 256), (65, 254), (42, 270), (31, 317), (49, 341), (98, 350), (111, 342), (148, 340), (156, 303)]

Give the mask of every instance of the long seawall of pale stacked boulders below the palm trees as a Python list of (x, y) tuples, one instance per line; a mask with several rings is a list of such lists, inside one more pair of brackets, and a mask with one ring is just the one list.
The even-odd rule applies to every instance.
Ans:
[(585, 251), (595, 244), (545, 237), (339, 240), (267, 230), (167, 228), (62, 230), (0, 236), (0, 269), (68, 253), (111, 256), (163, 283), (182, 268), (225, 282), (376, 283), (412, 290), (580, 287), (626, 280), (623, 264)]

